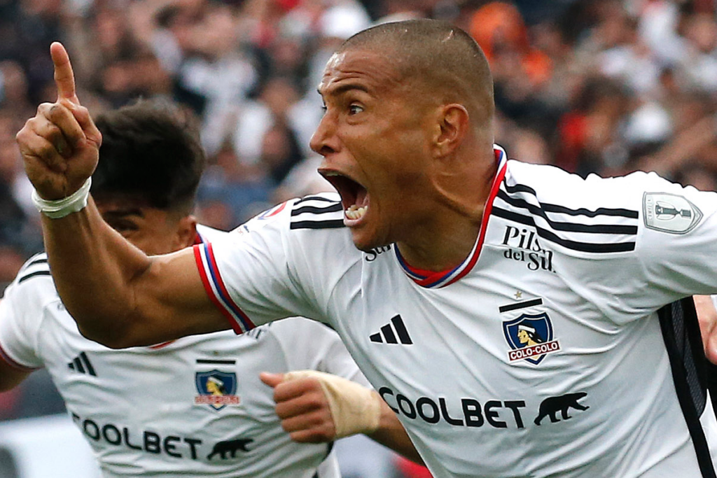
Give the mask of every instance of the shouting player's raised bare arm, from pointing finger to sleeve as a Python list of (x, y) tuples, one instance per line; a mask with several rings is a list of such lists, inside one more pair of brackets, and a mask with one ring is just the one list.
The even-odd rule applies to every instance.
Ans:
[[(124, 348), (229, 328), (204, 292), (191, 249), (148, 257), (103, 221), (91, 198), (82, 208), (102, 137), (77, 98), (65, 48), (55, 42), (50, 52), (57, 101), (39, 105), (16, 139), (45, 211), (52, 276), (80, 332)], [(80, 197), (67, 199), (73, 194)]]

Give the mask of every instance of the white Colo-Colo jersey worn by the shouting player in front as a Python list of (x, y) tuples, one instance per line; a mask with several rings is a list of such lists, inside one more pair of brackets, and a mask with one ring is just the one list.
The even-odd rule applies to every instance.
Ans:
[(336, 328), (437, 478), (714, 477), (696, 320), (668, 310), (663, 338), (656, 312), (717, 291), (717, 194), (495, 153), (455, 269), (360, 252), (329, 194), (195, 247), (205, 287), (237, 331), (295, 314)]

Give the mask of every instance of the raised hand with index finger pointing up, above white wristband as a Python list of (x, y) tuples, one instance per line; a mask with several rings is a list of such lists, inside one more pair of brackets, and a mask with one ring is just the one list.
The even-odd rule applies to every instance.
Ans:
[(25, 172), (42, 199), (62, 199), (95, 171), (102, 135), (80, 105), (65, 47), (50, 45), (57, 101), (42, 103), (16, 135)]

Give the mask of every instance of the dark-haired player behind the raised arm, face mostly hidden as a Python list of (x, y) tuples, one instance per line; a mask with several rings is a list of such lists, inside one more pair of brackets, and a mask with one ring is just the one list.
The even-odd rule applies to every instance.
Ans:
[[(191, 216), (204, 155), (186, 122), (143, 101), (101, 115), (97, 125), (104, 141), (92, 195), (115, 237), (150, 254), (222, 239), (226, 233)], [(239, 340), (226, 331), (106, 348), (77, 331), (45, 254), (29, 259), (0, 302), (0, 390), (41, 367), (106, 477), (339, 477), (331, 444), (295, 443), (282, 430), (265, 385), (293, 398), (293, 408), (282, 410), (293, 436), (331, 439), (331, 413), (315, 380), (267, 374), (262, 383), (259, 375), (312, 369), (365, 381), (336, 333), (299, 318)], [(385, 405), (382, 411), (399, 426)]]

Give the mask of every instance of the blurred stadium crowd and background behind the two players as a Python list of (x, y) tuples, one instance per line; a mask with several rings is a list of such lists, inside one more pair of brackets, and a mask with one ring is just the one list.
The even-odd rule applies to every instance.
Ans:
[[(657, 171), (714, 191), (715, 3), (0, 0), (0, 290), (42, 249), (14, 135), (40, 102), (56, 99), (54, 40), (70, 52), (90, 113), (166, 97), (196, 115), (210, 165), (197, 216), (232, 229), (277, 201), (330, 188), (308, 148), (326, 60), (371, 24), (419, 17), (452, 21), (483, 47), (495, 77), (496, 141), (511, 158), (583, 176)], [(0, 394), (0, 478), (30, 477), (13, 472), (23, 439), (39, 446), (27, 436), (54, 418), (29, 417), (63, 411), (42, 372)], [(347, 478), (427, 476), (362, 439), (338, 450)]]

